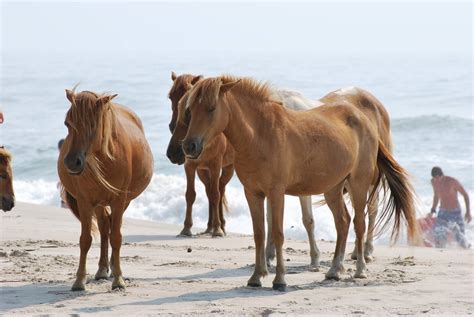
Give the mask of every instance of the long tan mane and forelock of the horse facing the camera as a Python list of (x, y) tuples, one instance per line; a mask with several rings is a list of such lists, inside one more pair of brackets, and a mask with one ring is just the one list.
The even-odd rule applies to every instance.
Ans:
[[(71, 108), (66, 114), (66, 122), (76, 130), (79, 137), (83, 138), (84, 144), (91, 142), (92, 151), (87, 156), (87, 165), (92, 175), (109, 191), (118, 194), (119, 189), (105, 179), (103, 162), (97, 155), (102, 153), (106, 158), (115, 160), (113, 136), (116, 134), (117, 117), (113, 104), (110, 102), (112, 98), (111, 95), (99, 95), (92, 91), (74, 93)], [(100, 99), (106, 102), (98, 103)], [(86, 140), (91, 136), (92, 141)]]

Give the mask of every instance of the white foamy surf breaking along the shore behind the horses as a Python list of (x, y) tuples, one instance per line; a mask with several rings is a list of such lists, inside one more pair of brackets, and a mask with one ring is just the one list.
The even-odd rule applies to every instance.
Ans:
[[(43, 205), (59, 206), (59, 194), (56, 182), (44, 180), (15, 181), (17, 200)], [(151, 220), (171, 223), (182, 226), (186, 210), (185, 201), (186, 180), (181, 176), (155, 174), (153, 179), (137, 199), (132, 201), (125, 216), (135, 219)], [(241, 186), (228, 185), (226, 196), (229, 204), (229, 213), (226, 216), (227, 231), (252, 234), (252, 222), (247, 201)], [(313, 197), (313, 202), (317, 201)], [(418, 214), (426, 214), (431, 205), (431, 197), (421, 197), (418, 201)], [(350, 204), (348, 204), (350, 207)], [(349, 208), (351, 210), (351, 208)], [(353, 214), (352, 211), (350, 211)], [(334, 220), (327, 206), (313, 206), (316, 239), (327, 241), (336, 240)], [(196, 201), (193, 205), (193, 233), (205, 229), (208, 219), (208, 201), (204, 186), (196, 182)], [(293, 239), (307, 239), (307, 233), (302, 223), (301, 208), (297, 197), (285, 197), (284, 214), (285, 237)], [(474, 241), (474, 226), (467, 226), (467, 238)], [(179, 232), (176, 232), (178, 234)], [(402, 235), (403, 236), (403, 235)], [(351, 228), (348, 241), (354, 241), (355, 234)], [(401, 239), (401, 243), (405, 241)], [(376, 244), (388, 244), (389, 233), (382, 235)]]

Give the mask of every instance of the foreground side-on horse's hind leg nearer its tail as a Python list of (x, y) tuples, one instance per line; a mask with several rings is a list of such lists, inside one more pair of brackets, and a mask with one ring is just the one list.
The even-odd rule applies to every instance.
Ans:
[(363, 181), (349, 180), (352, 206), (354, 207), (354, 229), (356, 232), (357, 269), (355, 278), (367, 278), (367, 266), (364, 257), (365, 235), (365, 205), (369, 186), (364, 186)]

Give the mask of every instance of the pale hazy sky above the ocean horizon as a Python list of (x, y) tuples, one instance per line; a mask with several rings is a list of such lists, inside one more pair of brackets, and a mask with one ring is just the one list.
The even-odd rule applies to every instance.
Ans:
[(472, 51), (472, 3), (1, 1), (2, 51)]

